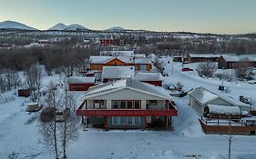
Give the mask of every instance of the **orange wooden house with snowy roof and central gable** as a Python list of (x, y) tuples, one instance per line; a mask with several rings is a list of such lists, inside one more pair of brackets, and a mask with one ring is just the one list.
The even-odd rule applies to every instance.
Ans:
[(90, 70), (102, 71), (103, 66), (135, 66), (136, 70), (149, 71), (152, 62), (147, 57), (128, 56), (90, 56)]

